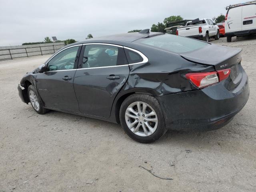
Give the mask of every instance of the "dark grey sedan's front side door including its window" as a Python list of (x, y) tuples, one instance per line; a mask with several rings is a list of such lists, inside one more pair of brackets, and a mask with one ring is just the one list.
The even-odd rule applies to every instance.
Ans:
[(36, 76), (36, 88), (49, 108), (79, 112), (73, 80), (82, 46), (72, 46), (54, 55), (48, 70)]

